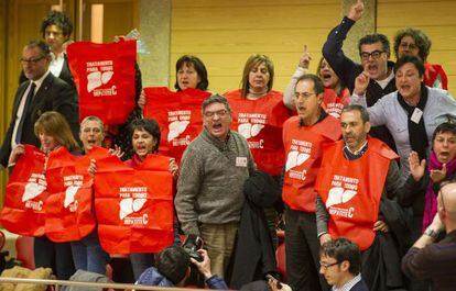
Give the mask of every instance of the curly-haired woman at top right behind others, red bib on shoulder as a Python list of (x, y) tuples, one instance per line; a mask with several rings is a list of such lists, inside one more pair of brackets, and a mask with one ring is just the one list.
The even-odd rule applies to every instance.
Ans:
[(394, 37), (397, 58), (405, 55), (416, 56), (424, 61), (424, 85), (434, 88), (448, 89), (448, 78), (441, 65), (427, 63), (432, 42), (424, 32), (408, 27), (400, 30)]

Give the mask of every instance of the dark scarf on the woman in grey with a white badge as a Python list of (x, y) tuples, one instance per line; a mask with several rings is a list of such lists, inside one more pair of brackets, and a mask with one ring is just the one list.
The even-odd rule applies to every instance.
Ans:
[(420, 156), (420, 160), (426, 158), (426, 148), (428, 145), (426, 127), (424, 126), (424, 117), (421, 116), (420, 122), (416, 124), (412, 121), (412, 114), (415, 109), (420, 109), (424, 112), (424, 107), (427, 102), (427, 88), (422, 83), (421, 85), (421, 98), (416, 107), (409, 105), (401, 93), (398, 91), (398, 102), (405, 110), (409, 116), (409, 141), (412, 147), (412, 150), (416, 152)]

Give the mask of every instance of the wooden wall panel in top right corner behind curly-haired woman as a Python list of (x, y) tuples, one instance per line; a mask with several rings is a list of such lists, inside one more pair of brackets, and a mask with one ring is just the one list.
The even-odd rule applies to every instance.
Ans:
[[(432, 41), (430, 63), (441, 64), (448, 75), (448, 90), (456, 97), (456, 1), (378, 0), (378, 32), (393, 37), (398, 30), (416, 27)], [(393, 57), (395, 59), (395, 56)]]

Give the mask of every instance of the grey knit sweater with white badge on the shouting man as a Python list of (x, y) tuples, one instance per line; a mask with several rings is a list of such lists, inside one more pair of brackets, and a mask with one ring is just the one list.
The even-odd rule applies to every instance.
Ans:
[(243, 183), (254, 164), (246, 138), (231, 131), (227, 142), (206, 128), (185, 149), (175, 206), (185, 234), (199, 235), (199, 224), (239, 222)]

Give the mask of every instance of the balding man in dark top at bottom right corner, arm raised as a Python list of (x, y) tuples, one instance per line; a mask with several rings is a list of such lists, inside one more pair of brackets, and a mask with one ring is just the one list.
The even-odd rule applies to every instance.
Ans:
[[(435, 243), (443, 232), (445, 238)], [(456, 290), (456, 180), (442, 183), (434, 221), (402, 259), (402, 270), (431, 280), (434, 291)]]

